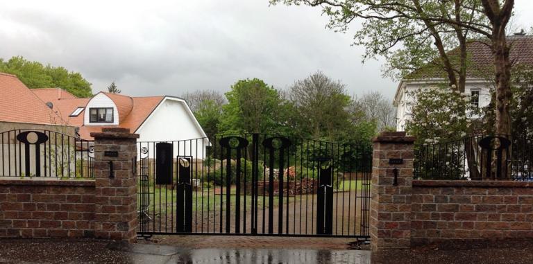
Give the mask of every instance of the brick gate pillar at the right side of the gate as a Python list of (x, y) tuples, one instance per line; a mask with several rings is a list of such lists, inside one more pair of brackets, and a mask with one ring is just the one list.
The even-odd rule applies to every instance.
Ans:
[[(409, 248), (411, 245), (413, 143), (414, 138), (406, 137), (405, 132), (383, 132), (373, 139), (370, 203), (372, 250)], [(401, 164), (398, 164), (399, 159), (403, 159)], [(396, 186), (395, 168), (398, 171)]]

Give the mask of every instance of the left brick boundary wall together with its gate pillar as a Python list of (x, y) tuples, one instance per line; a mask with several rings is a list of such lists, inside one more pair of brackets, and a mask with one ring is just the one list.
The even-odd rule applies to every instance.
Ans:
[(138, 134), (94, 137), (94, 179), (0, 177), (0, 237), (94, 237), (135, 241)]

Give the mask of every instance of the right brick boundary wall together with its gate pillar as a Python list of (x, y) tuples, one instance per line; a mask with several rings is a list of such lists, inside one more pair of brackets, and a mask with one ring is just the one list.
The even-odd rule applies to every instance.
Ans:
[(373, 250), (533, 239), (533, 182), (413, 180), (413, 141), (405, 132), (374, 139)]

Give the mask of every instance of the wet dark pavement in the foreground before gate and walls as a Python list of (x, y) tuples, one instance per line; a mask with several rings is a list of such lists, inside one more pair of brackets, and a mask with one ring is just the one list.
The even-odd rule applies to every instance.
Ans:
[(371, 254), (362, 250), (282, 248), (187, 248), (124, 245), (104, 240), (0, 239), (0, 263), (533, 263), (533, 242), (512, 247), (440, 250), (425, 248)]

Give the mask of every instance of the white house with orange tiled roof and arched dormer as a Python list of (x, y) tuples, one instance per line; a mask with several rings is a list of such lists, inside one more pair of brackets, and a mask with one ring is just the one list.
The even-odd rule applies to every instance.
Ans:
[(79, 127), (82, 139), (92, 140), (91, 132), (102, 127), (125, 127), (139, 134), (139, 155), (154, 155), (155, 142), (174, 144), (174, 156), (205, 157), (207, 135), (183, 98), (174, 96), (130, 97), (100, 92), (92, 98), (77, 98), (59, 88), (32, 89), (49, 103), (67, 125)]

